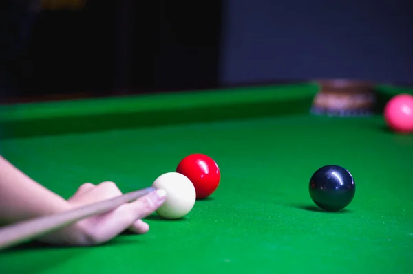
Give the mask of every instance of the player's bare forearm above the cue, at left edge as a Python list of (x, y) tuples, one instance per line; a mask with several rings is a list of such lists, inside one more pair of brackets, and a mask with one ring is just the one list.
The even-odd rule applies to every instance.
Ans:
[(0, 222), (10, 223), (69, 209), (61, 196), (36, 183), (0, 156)]

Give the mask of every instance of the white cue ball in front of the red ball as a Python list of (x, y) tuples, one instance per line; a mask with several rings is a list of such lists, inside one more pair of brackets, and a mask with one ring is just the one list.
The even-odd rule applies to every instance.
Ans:
[(187, 176), (177, 172), (165, 173), (160, 175), (152, 185), (158, 190), (162, 189), (167, 192), (165, 203), (156, 210), (162, 218), (182, 218), (195, 205), (195, 187)]

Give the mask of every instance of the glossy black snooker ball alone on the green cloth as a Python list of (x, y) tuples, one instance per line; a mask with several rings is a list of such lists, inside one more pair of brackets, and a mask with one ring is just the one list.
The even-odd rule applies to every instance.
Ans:
[(339, 165), (325, 165), (311, 176), (309, 192), (313, 202), (328, 212), (347, 207), (356, 193), (350, 172)]

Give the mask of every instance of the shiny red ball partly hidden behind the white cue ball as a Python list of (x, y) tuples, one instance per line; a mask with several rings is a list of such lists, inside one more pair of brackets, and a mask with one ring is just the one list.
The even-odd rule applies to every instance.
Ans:
[(207, 155), (192, 154), (184, 157), (178, 164), (176, 172), (191, 180), (197, 199), (207, 198), (220, 184), (220, 169), (217, 163)]

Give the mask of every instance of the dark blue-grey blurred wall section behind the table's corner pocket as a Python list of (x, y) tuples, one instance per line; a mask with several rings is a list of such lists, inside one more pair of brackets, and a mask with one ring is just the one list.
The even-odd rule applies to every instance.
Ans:
[(222, 82), (413, 82), (413, 1), (224, 2)]

